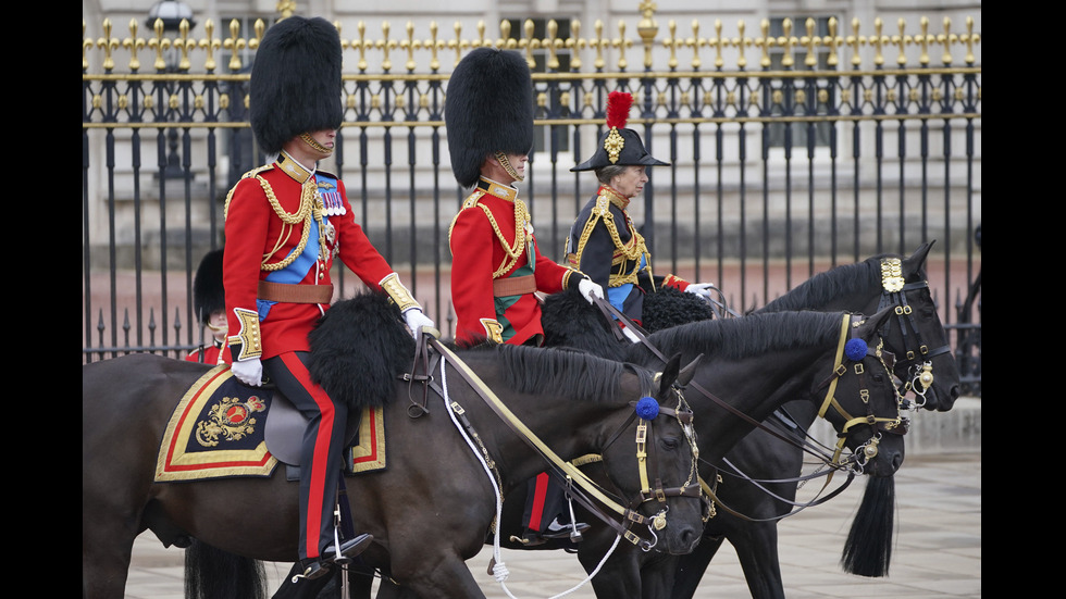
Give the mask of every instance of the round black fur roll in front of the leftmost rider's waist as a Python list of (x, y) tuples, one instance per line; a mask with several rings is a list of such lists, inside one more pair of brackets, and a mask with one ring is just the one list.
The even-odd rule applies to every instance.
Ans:
[(414, 359), (414, 339), (399, 309), (382, 292), (335, 302), (308, 335), (308, 370), (333, 398), (351, 408), (384, 405)]

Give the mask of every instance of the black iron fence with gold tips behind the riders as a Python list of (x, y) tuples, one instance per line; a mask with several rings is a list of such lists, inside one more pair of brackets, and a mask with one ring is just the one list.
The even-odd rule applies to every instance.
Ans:
[[(538, 136), (520, 188), (545, 253), (561, 261), (570, 223), (595, 190), (593, 177), (569, 169), (594, 151), (607, 95), (631, 91), (629, 126), (671, 164), (652, 171), (632, 211), (657, 272), (716, 282), (747, 310), (833, 265), (935, 239), (930, 285), (968, 391), (980, 395), (980, 36), (969, 22), (954, 33), (946, 20), (942, 34), (920, 20), (918, 32), (904, 34), (901, 22), (893, 36), (879, 22), (869, 36), (857, 23), (845, 35), (833, 18), (802, 25), (768, 21), (748, 37), (739, 23), (736, 37), (703, 39), (671, 23), (665, 37), (645, 27), (635, 40), (598, 29), (581, 38), (574, 23), (556, 37), (557, 24), (532, 21), (520, 37), (504, 22), (495, 40), (360, 32), (344, 40), (354, 68), (324, 167), (345, 180), (357, 220), (450, 333), (447, 229), (464, 192), (447, 162), (442, 62), (476, 46), (515, 48), (534, 71)], [(146, 38), (132, 26), (122, 39), (104, 29), (83, 43), (83, 361), (179, 357), (202, 340), (193, 271), (224, 244), (226, 190), (263, 161), (246, 120), (258, 37), (232, 26), (215, 39), (210, 23), (204, 39), (187, 26), (160, 25)], [(686, 66), (682, 50), (692, 52)], [(642, 67), (631, 71), (634, 59)], [(343, 296), (361, 285), (347, 274), (338, 266)]]

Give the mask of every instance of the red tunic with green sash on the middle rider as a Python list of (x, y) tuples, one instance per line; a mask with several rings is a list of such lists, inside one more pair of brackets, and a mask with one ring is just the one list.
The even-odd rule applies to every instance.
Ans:
[[(492, 220), (486, 209), (492, 213)], [(519, 230), (528, 239), (516, 246)], [(489, 327), (495, 323), (503, 325), (503, 340), (508, 344), (520, 345), (535, 335), (543, 335), (541, 304), (533, 292), (522, 294), (510, 305), (506, 305), (510, 300), (497, 302), (493, 294), (494, 279), (507, 278), (516, 271), (521, 274), (521, 269), (529, 266), (531, 248), (536, 290), (545, 294), (561, 291), (573, 272), (541, 255), (529, 213), (524, 202), (518, 199), (517, 189), (482, 178), (453, 220), (448, 242), (451, 248), (451, 303), (458, 321), (457, 342), (484, 340), (491, 336)], [(510, 255), (508, 250), (518, 255)]]

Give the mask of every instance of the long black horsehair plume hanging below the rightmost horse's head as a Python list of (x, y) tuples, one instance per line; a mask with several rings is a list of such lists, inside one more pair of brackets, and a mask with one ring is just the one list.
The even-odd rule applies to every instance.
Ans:
[(869, 577), (888, 576), (894, 515), (895, 477), (869, 477), (863, 503), (844, 542), (840, 561), (845, 572)]

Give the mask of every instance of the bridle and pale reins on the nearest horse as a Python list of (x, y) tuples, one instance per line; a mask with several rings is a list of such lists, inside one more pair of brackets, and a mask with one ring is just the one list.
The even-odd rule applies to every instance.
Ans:
[[(485, 403), (492, 408), (492, 410), (504, 421), (508, 426), (511, 427), (515, 433), (517, 433), (523, 440), (525, 440), (537, 453), (540, 453), (545, 461), (548, 463), (548, 472), (556, 476), (557, 479), (562, 479), (563, 485), (568, 489), (568, 494), (579, 503), (584, 506), (591, 513), (599, 517), (607, 525), (615, 528), (618, 534), (624, 537), (627, 540), (641, 547), (644, 551), (649, 551), (655, 547), (657, 540), (655, 538), (654, 531), (661, 531), (666, 526), (666, 506), (657, 514), (652, 517), (645, 516), (637, 510), (647, 501), (657, 500), (665, 504), (667, 498), (669, 497), (699, 497), (701, 496), (701, 485), (698, 483), (698, 476), (696, 474), (696, 463), (698, 461), (698, 449), (695, 442), (695, 433), (692, 428), (692, 410), (689, 409), (687, 403), (684, 401), (684, 396), (681, 394), (681, 389), (675, 385), (674, 390), (679, 397), (679, 403), (677, 408), (668, 408), (659, 405), (654, 399), (647, 398), (655, 402), (657, 408), (657, 413), (670, 415), (677, 417), (682, 425), (682, 429), (685, 430), (685, 435), (689, 438), (690, 449), (693, 452), (692, 456), (692, 466), (689, 473), (689, 479), (684, 485), (679, 487), (664, 487), (661, 477), (655, 469), (655, 461), (652, 461), (652, 470), (648, 471), (648, 454), (654, 451), (654, 427), (650, 426), (652, 420), (655, 415), (645, 413), (644, 417), (640, 415), (637, 410), (625, 420), (624, 423), (619, 427), (619, 429), (613, 433), (607, 444), (605, 444), (604, 449), (606, 449), (611, 442), (613, 442), (629, 425), (635, 420), (637, 422), (637, 434), (635, 438), (636, 442), (636, 458), (639, 463), (640, 476), (642, 482), (642, 489), (639, 494), (639, 498), (634, 499), (629, 508), (622, 507), (617, 503), (613, 499), (606, 495), (606, 491), (599, 487), (595, 482), (588, 478), (578, 465), (573, 462), (563, 461), (559, 458), (550, 448), (548, 448), (540, 438), (533, 434), (508, 408), (505, 405), (498, 397), (488, 388), (487, 385), (481, 378), (471, 371), (462, 360), (460, 360), (454, 352), (443, 346), (437, 339), (431, 337), (423, 337), (426, 342), (429, 342), (439, 354), (442, 362), (450, 362), (453, 367), (462, 376), (467, 384), (483, 399)], [(441, 364), (443, 370), (444, 363)], [(419, 377), (420, 382), (429, 385), (437, 392), (442, 398), (448, 399), (447, 391), (444, 389), (432, 376)], [(467, 429), (471, 437), (476, 439), (481, 446), (481, 451), (483, 457), (486, 459), (486, 464), (493, 471), (496, 477), (497, 486), (500, 481), (499, 472), (496, 470), (495, 461), (492, 460), (488, 449), (481, 441), (481, 436), (474, 430), (473, 425), (466, 417), (466, 411), (456, 401), (448, 401), (453, 412), (458, 416), (458, 420), (462, 423), (463, 427)], [(631, 402), (636, 407), (640, 402)], [(410, 417), (419, 417), (426, 411), (414, 410), (409, 415)], [(649, 437), (653, 439), (649, 441)], [(652, 487), (650, 482), (655, 482), (655, 486)], [(577, 488), (574, 488), (577, 485)], [(620, 514), (621, 521), (617, 521), (609, 516), (600, 506), (606, 506), (610, 510)], [(645, 539), (639, 534), (632, 531), (635, 525), (645, 525), (648, 528), (649, 534), (653, 536), (652, 539)]]

